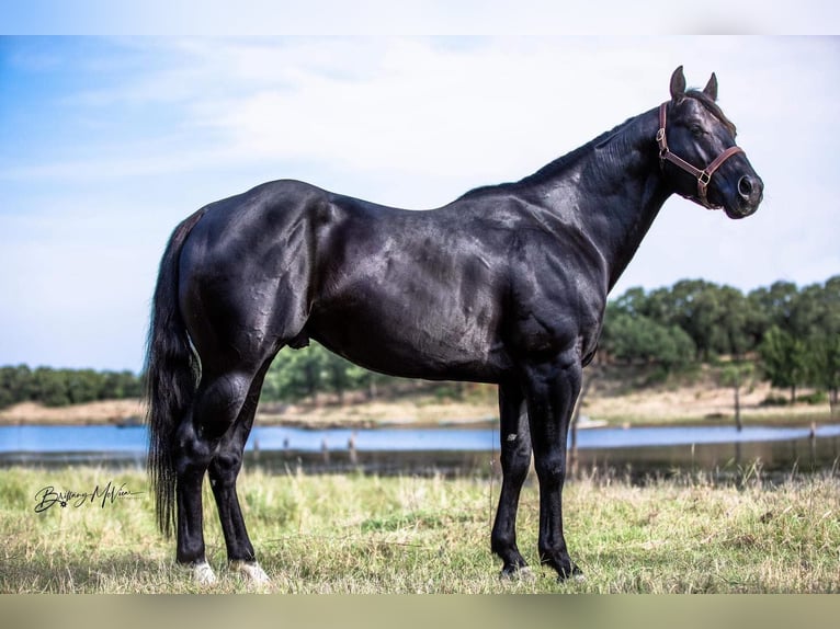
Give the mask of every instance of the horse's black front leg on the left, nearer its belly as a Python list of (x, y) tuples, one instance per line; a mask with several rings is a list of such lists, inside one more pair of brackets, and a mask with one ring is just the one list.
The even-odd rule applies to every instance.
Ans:
[(499, 385), (499, 436), (502, 484), (490, 547), (502, 562), (501, 576), (526, 576), (527, 563), (517, 547), (517, 511), (522, 483), (531, 465), (531, 435), (519, 382)]

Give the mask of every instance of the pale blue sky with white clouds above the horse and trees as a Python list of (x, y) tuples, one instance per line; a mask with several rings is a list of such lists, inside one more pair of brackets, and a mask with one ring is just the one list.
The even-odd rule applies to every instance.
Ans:
[(764, 202), (671, 197), (612, 296), (840, 274), (839, 37), (2, 36), (0, 365), (138, 371), (166, 241), (209, 202), (290, 178), (436, 207), (655, 107), (679, 65), (716, 72)]

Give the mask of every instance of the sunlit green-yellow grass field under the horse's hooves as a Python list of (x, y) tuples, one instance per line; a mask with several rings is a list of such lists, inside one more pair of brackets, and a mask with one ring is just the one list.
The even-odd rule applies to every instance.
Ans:
[[(753, 470), (754, 471), (754, 470)], [(44, 485), (91, 491), (109, 481), (146, 492), (140, 471), (91, 467), (0, 471), (0, 592), (247, 592), (225, 568), (205, 487), (207, 558), (219, 582), (202, 590), (173, 563), (150, 495), (35, 513)], [(258, 557), (277, 593), (816, 593), (840, 592), (840, 479), (760, 474), (567, 484), (564, 511), (582, 582), (502, 582), (489, 551), (498, 479), (243, 473), (240, 498)], [(520, 548), (536, 563), (535, 483), (523, 490)]]

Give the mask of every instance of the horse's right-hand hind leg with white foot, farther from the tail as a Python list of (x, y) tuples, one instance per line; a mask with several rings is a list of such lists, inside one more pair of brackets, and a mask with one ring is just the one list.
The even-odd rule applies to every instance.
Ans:
[(253, 425), (260, 390), (270, 364), (271, 359), (265, 361), (251, 381), (239, 416), (231, 430), (225, 434), (208, 468), (211, 488), (218, 507), (222, 530), (225, 535), (228, 567), (254, 585), (268, 584), (270, 580), (258, 563), (253, 546), (248, 537), (237, 495), (236, 479), (242, 467), (245, 444)]

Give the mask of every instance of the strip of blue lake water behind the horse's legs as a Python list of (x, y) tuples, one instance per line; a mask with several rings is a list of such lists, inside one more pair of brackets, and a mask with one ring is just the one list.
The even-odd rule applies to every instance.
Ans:
[[(351, 451), (350, 443), (354, 443)], [(498, 465), (498, 430), (307, 430), (257, 426), (246, 460), (268, 469), (356, 469), (415, 472)], [(145, 461), (145, 426), (0, 426), (0, 462), (66, 464)], [(578, 431), (579, 460), (587, 467), (714, 469), (760, 459), (775, 469), (830, 468), (840, 457), (840, 424), (817, 426), (639, 426)]]

